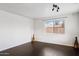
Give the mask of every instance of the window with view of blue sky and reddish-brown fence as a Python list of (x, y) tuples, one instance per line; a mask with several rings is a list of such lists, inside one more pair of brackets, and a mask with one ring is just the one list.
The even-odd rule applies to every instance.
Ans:
[(46, 32), (48, 33), (64, 33), (63, 19), (49, 19), (45, 23)]

